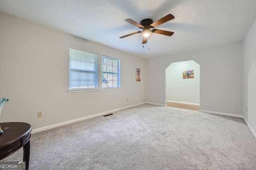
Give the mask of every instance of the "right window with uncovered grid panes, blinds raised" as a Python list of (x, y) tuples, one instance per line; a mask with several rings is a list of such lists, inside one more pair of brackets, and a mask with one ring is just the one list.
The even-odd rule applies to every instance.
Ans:
[(102, 56), (102, 88), (120, 87), (120, 59)]

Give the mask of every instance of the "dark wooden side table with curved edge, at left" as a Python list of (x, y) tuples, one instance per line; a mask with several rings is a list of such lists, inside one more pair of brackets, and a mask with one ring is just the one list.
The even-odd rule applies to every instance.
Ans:
[(0, 126), (4, 131), (0, 134), (0, 160), (23, 147), (23, 161), (28, 170), (32, 126), (23, 122), (0, 123)]

